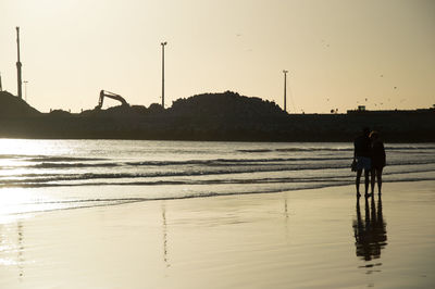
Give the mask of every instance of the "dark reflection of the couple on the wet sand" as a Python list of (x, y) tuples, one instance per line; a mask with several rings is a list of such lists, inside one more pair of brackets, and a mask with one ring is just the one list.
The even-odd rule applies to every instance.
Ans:
[[(377, 200), (377, 208), (375, 204), (375, 198), (365, 199), (365, 214), (364, 218), (361, 217), (360, 200), (357, 200), (357, 218), (353, 219), (353, 233), (355, 233), (355, 246), (356, 253), (361, 260), (370, 262), (381, 257), (381, 251), (387, 246), (387, 231), (386, 223), (382, 212), (382, 199), (381, 196)], [(370, 199), (370, 201), (369, 201)], [(373, 269), (374, 267), (381, 266), (382, 263), (364, 264), (363, 268), (368, 268), (368, 274), (373, 272), (380, 272)]]

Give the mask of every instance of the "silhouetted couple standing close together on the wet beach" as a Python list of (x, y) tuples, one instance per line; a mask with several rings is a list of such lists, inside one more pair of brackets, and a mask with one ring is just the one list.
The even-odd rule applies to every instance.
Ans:
[(377, 179), (377, 191), (381, 194), (382, 171), (385, 166), (384, 143), (380, 140), (376, 131), (370, 133), (364, 127), (362, 135), (353, 141), (353, 164), (352, 169), (357, 171), (357, 197), (360, 197), (360, 180), (364, 171), (365, 197), (369, 197), (369, 174), (371, 175), (372, 194), (374, 192), (375, 178)]

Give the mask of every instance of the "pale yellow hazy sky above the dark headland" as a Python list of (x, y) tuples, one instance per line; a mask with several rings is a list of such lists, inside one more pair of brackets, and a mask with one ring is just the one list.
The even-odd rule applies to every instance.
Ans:
[[(434, 0), (0, 0), (0, 74), (41, 112), (94, 109), (99, 91), (165, 106), (236, 91), (287, 111), (435, 104)], [(104, 108), (117, 105), (114, 100)]]

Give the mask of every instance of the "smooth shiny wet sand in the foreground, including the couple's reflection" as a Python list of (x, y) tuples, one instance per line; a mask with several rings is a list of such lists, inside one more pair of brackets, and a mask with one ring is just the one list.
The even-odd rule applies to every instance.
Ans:
[(0, 288), (433, 288), (435, 184), (54, 211), (0, 224)]

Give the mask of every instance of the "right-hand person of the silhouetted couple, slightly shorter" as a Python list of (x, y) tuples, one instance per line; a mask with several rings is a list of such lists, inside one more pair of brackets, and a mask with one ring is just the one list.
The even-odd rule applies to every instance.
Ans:
[(370, 134), (371, 153), (372, 153), (372, 193), (374, 192), (375, 177), (377, 178), (377, 192), (381, 194), (382, 189), (382, 171), (385, 166), (385, 149), (384, 143), (380, 139), (377, 131)]

